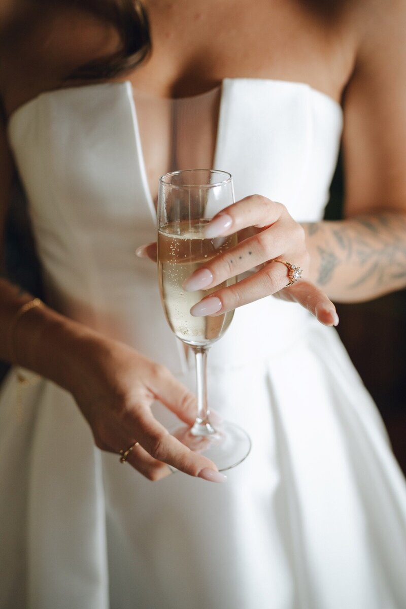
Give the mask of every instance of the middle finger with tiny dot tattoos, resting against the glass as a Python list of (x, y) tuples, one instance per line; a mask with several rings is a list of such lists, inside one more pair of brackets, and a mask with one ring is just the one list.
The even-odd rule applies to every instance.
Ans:
[[(303, 255), (299, 257), (304, 260), (307, 258), (307, 253), (303, 236), (304, 231), (299, 224), (292, 223), (289, 229), (285, 227), (284, 223), (275, 224), (273, 227), (240, 242), (219, 256), (211, 258), (205, 266), (195, 270), (184, 281), (183, 288), (187, 292), (194, 292), (195, 290), (218, 286), (231, 277), (241, 275), (253, 267), (277, 258), (281, 252), (284, 252), (287, 242), (289, 242), (291, 249), (294, 248), (296, 243), (299, 244), (298, 251), (303, 250)], [(297, 253), (296, 256), (298, 256)], [(303, 260), (295, 259), (295, 264), (306, 266)]]

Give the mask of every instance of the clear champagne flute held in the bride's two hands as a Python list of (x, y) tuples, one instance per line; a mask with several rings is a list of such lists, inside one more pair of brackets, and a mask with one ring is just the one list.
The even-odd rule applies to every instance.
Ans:
[(183, 283), (200, 266), (237, 244), (237, 235), (206, 238), (211, 218), (234, 203), (233, 180), (225, 171), (189, 169), (163, 175), (158, 194), (158, 276), (167, 322), (175, 336), (195, 355), (197, 417), (192, 428), (173, 432), (185, 445), (202, 452), (219, 471), (241, 463), (251, 449), (247, 433), (234, 423), (212, 424), (207, 403), (207, 354), (233, 319), (234, 311), (216, 317), (193, 317), (190, 309), (201, 298), (236, 277), (208, 290), (186, 292)]

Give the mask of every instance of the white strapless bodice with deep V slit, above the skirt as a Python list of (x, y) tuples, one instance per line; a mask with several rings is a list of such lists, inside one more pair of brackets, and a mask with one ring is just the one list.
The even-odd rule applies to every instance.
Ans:
[[(341, 128), (340, 105), (308, 85), (225, 79), (214, 167), (233, 174), (236, 199), (262, 194), (299, 221), (318, 220)], [(49, 303), (181, 370), (186, 362), (164, 319), (155, 266), (135, 253), (155, 241), (156, 215), (131, 84), (43, 93), (13, 113), (9, 137)], [(259, 356), (278, 352), (308, 317), (275, 298), (240, 309), (214, 346), (212, 365), (227, 365), (229, 353), (243, 364), (247, 354), (236, 342), (253, 338)]]

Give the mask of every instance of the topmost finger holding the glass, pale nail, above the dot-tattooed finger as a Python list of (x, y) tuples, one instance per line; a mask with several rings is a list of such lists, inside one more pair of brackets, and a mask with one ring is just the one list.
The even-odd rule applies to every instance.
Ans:
[(252, 226), (270, 226), (281, 217), (284, 210), (285, 207), (281, 203), (271, 201), (262, 195), (250, 195), (216, 214), (205, 227), (205, 236), (219, 237)]

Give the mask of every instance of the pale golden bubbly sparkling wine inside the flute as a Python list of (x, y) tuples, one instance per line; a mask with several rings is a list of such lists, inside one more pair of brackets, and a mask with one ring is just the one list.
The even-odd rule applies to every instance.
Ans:
[(196, 269), (237, 244), (235, 234), (207, 239), (209, 220), (168, 223), (158, 231), (159, 288), (173, 333), (189, 345), (209, 345), (225, 333), (234, 311), (216, 317), (193, 317), (190, 309), (201, 298), (236, 282), (233, 277), (208, 290), (186, 292), (182, 284)]

